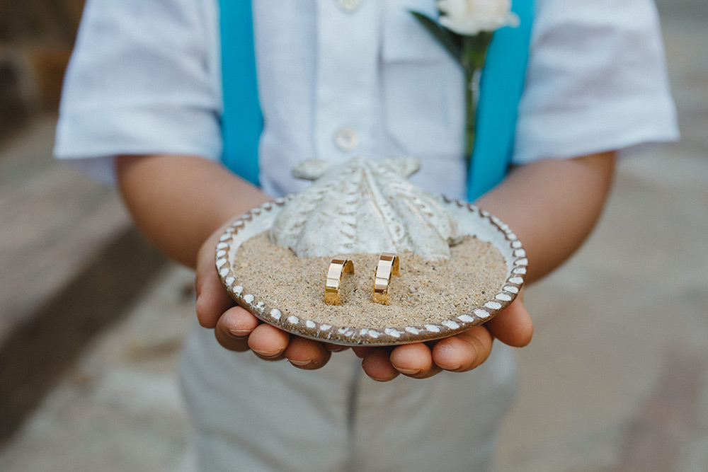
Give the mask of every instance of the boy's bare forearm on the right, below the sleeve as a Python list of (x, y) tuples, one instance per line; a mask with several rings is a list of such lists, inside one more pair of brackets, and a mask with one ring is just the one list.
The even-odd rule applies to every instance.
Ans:
[(569, 258), (600, 217), (610, 191), (615, 153), (544, 160), (515, 169), (476, 205), (518, 234), (529, 257), (527, 281)]

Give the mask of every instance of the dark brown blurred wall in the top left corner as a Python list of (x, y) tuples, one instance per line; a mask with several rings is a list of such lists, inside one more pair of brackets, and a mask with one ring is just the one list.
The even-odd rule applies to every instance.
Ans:
[(84, 0), (0, 0), (0, 139), (56, 110)]

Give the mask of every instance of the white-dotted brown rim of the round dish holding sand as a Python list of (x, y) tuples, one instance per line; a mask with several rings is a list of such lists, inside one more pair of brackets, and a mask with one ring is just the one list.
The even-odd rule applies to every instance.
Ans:
[(277, 326), (288, 333), (348, 346), (399, 345), (447, 338), (489, 321), (514, 301), (523, 286), (528, 265), (526, 251), (508, 224), (474, 205), (441, 197), (443, 205), (456, 217), (461, 234), (476, 236), (482, 241), (491, 243), (506, 260), (505, 282), (493, 297), (484, 301), (471, 313), (462, 313), (424, 326), (389, 326), (383, 329), (372, 329), (366, 326), (328, 325), (301, 318), (298, 313), (287, 311), (285, 306), (268, 306), (265, 301), (249, 294), (244, 285), (236, 280), (233, 263), (241, 244), (269, 229), (282, 205), (285, 205), (289, 199), (290, 197), (278, 198), (242, 214), (224, 231), (216, 247), (217, 272), (229, 295), (237, 304), (251, 311), (265, 323)]

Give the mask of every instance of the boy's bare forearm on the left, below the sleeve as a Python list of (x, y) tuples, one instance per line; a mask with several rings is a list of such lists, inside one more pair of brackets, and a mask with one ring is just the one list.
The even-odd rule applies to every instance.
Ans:
[(116, 173), (142, 233), (162, 253), (190, 267), (219, 226), (269, 200), (218, 163), (196, 156), (119, 156)]

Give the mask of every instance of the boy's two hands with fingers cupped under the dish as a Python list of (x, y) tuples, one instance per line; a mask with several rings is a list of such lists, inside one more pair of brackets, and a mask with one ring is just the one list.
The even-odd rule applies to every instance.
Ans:
[[(205, 328), (214, 328), (219, 344), (229, 350), (252, 350), (267, 360), (288, 359), (301, 369), (319, 369), (331, 352), (343, 346), (320, 343), (262, 323), (240, 306), (234, 306), (219, 280), (214, 264), (219, 229), (200, 248), (197, 260), (197, 317)], [(389, 381), (399, 374), (423, 379), (444, 370), (466, 372), (482, 364), (491, 352), (493, 338), (513, 346), (527, 345), (533, 333), (530, 316), (519, 297), (508, 309), (484, 326), (438, 340), (397, 347), (355, 347), (362, 368), (372, 379)]]

